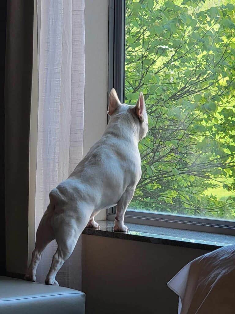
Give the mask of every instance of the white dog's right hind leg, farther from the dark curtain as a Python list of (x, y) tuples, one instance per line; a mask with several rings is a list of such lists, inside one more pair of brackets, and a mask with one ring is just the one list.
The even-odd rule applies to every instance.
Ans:
[(59, 285), (55, 276), (72, 254), (79, 236), (87, 225), (90, 215), (80, 213), (79, 217), (71, 217), (64, 214), (58, 214), (53, 217), (53, 229), (55, 239), (58, 244), (57, 250), (53, 256), (49, 273), (46, 276), (45, 284)]

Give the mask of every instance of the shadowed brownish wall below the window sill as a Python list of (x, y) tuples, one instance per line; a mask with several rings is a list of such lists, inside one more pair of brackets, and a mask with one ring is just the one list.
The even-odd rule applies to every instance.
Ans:
[(206, 251), (82, 235), (86, 314), (176, 314), (166, 283)]

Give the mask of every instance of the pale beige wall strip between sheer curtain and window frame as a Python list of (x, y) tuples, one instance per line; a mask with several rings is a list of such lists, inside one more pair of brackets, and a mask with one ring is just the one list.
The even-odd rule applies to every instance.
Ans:
[[(85, 100), (83, 156), (107, 125), (108, 0), (85, 1)], [(106, 211), (97, 215), (106, 219)]]

